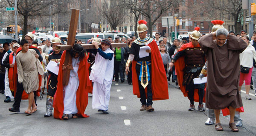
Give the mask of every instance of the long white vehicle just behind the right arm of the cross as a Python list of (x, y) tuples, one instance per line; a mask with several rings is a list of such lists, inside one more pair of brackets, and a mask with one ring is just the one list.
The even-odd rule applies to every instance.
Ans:
[(124, 33), (79, 33), (76, 35), (76, 39), (87, 42), (87, 40), (95, 38), (97, 35), (99, 35), (98, 38), (101, 39), (108, 38), (109, 36), (111, 36), (113, 40), (116, 36), (119, 36), (120, 40), (122, 37), (125, 37), (126, 39), (129, 38), (129, 36)]

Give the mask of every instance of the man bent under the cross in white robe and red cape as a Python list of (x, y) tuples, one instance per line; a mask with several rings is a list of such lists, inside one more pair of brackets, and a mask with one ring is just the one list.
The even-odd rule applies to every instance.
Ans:
[[(72, 56), (72, 63), (64, 66), (66, 53), (70, 53)], [(70, 51), (64, 51), (62, 55), (58, 72), (58, 87), (53, 102), (53, 116), (64, 120), (69, 119), (69, 114), (72, 114), (72, 118), (89, 117), (84, 114), (88, 104), (88, 89), (91, 87), (88, 72), (89, 64), (84, 48), (81, 44), (74, 44)], [(62, 84), (64, 69), (70, 69), (67, 86)]]

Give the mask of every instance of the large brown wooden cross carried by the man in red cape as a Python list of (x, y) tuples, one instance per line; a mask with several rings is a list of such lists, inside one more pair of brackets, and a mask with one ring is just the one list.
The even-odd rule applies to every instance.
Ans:
[[(79, 10), (72, 9), (67, 45), (57, 45), (56, 48), (58, 50), (71, 50), (72, 46), (75, 44), (78, 18), (79, 18)], [(93, 44), (81, 44), (81, 45), (84, 47), (84, 49), (95, 49)], [(127, 46), (126, 43), (112, 43), (112, 47), (126, 47), (126, 46)], [(67, 64), (72, 64), (72, 56), (70, 55), (69, 52), (66, 52), (64, 66), (67, 66)], [(63, 74), (62, 84), (64, 86), (67, 86), (69, 82), (69, 77), (70, 77), (70, 69), (65, 69), (63, 73), (65, 74)]]

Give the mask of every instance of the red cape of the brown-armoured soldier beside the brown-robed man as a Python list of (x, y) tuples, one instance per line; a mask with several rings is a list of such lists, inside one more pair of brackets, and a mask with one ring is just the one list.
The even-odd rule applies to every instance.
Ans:
[[(189, 42), (187, 44), (183, 44), (181, 47), (180, 47), (180, 51), (182, 50), (186, 50), (187, 48), (195, 48), (195, 47), (200, 47), (200, 45), (192, 45), (192, 42)], [(177, 72), (177, 80), (178, 80), (178, 83), (180, 85), (180, 90), (181, 92), (183, 92), (183, 95), (184, 97), (188, 97), (188, 91), (186, 91), (186, 86), (183, 86), (183, 74), (184, 74), (184, 71), (183, 69), (185, 68), (185, 56), (181, 56), (180, 58), (177, 59), (177, 61), (175, 61), (174, 65), (175, 65), (175, 69), (176, 69), (176, 72)], [(203, 102), (205, 103), (205, 90), (204, 90), (204, 99), (203, 99)], [(195, 89), (194, 91), (194, 101), (195, 102), (199, 102), (199, 96), (198, 96), (198, 89)]]

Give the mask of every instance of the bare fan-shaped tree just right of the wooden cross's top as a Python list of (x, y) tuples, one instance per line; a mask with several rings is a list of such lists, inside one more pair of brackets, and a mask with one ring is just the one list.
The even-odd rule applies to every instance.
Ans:
[(110, 3), (102, 3), (102, 7), (99, 8), (99, 13), (103, 18), (107, 19), (111, 25), (112, 30), (116, 30), (116, 27), (120, 25), (125, 17), (125, 8), (120, 8), (119, 5), (122, 1), (110, 0)]

